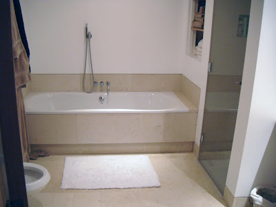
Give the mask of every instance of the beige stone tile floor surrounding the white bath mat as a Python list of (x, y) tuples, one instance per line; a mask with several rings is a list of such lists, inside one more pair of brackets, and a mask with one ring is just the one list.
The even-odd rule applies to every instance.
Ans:
[(51, 179), (40, 193), (28, 197), (29, 206), (226, 206), (193, 153), (148, 155), (161, 187), (134, 189), (61, 190), (65, 157), (32, 161), (46, 167)]

